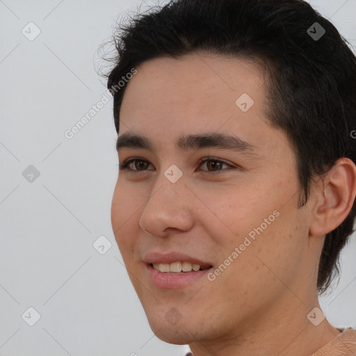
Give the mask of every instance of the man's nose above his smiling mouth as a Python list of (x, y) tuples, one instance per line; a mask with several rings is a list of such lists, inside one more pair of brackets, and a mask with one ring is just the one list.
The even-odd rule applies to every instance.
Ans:
[(193, 204), (197, 198), (193, 197), (184, 175), (172, 183), (162, 174), (140, 216), (140, 228), (154, 236), (166, 236), (171, 229), (188, 231), (194, 225)]

